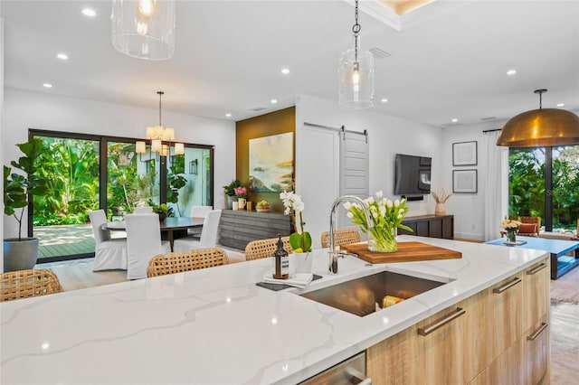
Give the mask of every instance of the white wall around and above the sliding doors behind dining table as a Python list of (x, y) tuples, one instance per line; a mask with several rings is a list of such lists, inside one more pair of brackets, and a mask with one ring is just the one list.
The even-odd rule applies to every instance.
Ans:
[[(135, 108), (50, 93), (5, 89), (2, 117), (4, 164), (10, 164), (20, 156), (18, 147), (14, 145), (28, 139), (28, 128), (145, 138), (146, 127), (158, 121), (158, 109), (155, 104), (151, 107)], [(175, 127), (177, 140), (215, 147), (214, 205), (223, 208), (221, 186), (235, 176), (235, 122), (176, 114), (164, 109), (163, 123)], [(4, 217), (5, 237), (12, 237), (17, 233), (17, 223), (13, 218)]]

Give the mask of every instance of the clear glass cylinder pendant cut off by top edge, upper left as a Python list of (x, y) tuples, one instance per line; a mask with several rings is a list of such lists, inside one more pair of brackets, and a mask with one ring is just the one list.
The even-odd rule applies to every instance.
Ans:
[(113, 0), (111, 41), (119, 52), (162, 61), (175, 53), (174, 0)]

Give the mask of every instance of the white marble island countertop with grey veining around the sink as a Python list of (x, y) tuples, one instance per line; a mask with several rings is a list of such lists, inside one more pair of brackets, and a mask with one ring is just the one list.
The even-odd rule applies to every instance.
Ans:
[(548, 256), (545, 251), (401, 236), (460, 259), (368, 267), (339, 260), (304, 291), (391, 270), (453, 279), (358, 317), (256, 282), (271, 259), (0, 305), (3, 384), (294, 384)]

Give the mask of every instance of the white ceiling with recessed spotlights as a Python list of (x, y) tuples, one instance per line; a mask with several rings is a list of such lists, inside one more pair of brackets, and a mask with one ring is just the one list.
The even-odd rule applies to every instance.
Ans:
[[(87, 5), (95, 18), (81, 14)], [(392, 56), (375, 61), (372, 110), (472, 124), (538, 108), (542, 88), (543, 108), (579, 110), (579, 1), (439, 0), (403, 15), (399, 31), (375, 5), (361, 5), (373, 14), (360, 14), (361, 42)], [(157, 108), (164, 90), (163, 110), (232, 120), (299, 94), (337, 100), (337, 60), (354, 23), (343, 0), (178, 1), (175, 56), (144, 61), (112, 48), (109, 1), (2, 0), (0, 11), (7, 88), (143, 108)]]

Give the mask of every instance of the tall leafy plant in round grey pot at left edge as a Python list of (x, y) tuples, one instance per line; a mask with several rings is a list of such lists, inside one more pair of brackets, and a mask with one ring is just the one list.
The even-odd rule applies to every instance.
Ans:
[(22, 236), (22, 220), (24, 207), (28, 206), (28, 196), (39, 196), (46, 192), (45, 181), (34, 174), (34, 161), (42, 154), (43, 141), (33, 139), (16, 146), (24, 156), (21, 156), (18, 162), (12, 161), (10, 164), (24, 174), (13, 174), (11, 167), (4, 166), (4, 213), (14, 215), (18, 222), (18, 238), (4, 239), (5, 272), (26, 270), (36, 265), (38, 239)]

